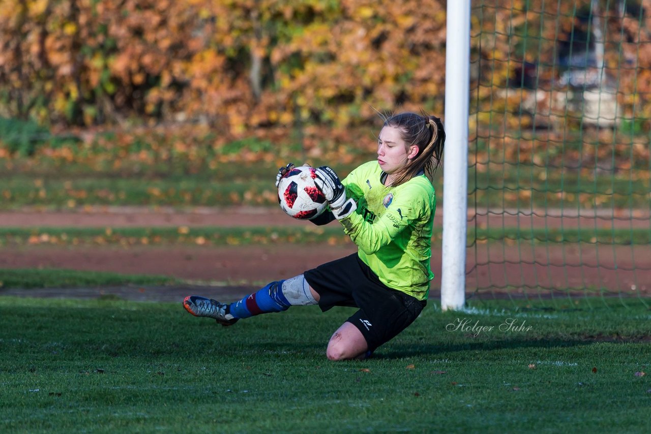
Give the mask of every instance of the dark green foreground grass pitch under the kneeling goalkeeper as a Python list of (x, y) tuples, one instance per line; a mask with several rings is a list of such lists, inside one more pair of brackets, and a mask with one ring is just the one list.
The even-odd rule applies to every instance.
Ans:
[(352, 309), (224, 328), (179, 303), (0, 297), (0, 431), (651, 429), (648, 308), (506, 303), (432, 303), (371, 359), (330, 362)]

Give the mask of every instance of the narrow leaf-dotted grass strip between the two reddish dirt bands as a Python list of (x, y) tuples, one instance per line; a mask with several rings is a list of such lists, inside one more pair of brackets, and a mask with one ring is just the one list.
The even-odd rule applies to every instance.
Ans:
[[(443, 228), (434, 226), (432, 245), (438, 248)], [(473, 241), (513, 241), (526, 243), (588, 243), (648, 245), (648, 228), (527, 228), (470, 226), (467, 243)], [(337, 226), (199, 226), (189, 228), (1, 228), (0, 246), (4, 245), (265, 245), (273, 243), (340, 245), (350, 237)]]

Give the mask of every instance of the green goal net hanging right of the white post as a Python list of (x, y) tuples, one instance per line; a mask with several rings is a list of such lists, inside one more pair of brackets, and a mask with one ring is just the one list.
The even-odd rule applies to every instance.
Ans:
[(470, 71), (469, 297), (644, 300), (651, 0), (475, 0)]

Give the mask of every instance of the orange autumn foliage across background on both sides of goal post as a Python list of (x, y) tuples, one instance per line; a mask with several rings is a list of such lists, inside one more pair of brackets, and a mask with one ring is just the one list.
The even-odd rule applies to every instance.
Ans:
[[(0, 115), (61, 127), (201, 122), (232, 138), (297, 123), (345, 129), (376, 111), (443, 115), (446, 3), (3, 0)], [(575, 10), (590, 2), (507, 3), (473, 9), (473, 109), (505, 128), (523, 126), (522, 107), (561, 126), (556, 39), (583, 25)], [(600, 1), (606, 73), (623, 115), (649, 117), (651, 14), (620, 17), (616, 3)], [(523, 61), (538, 66), (537, 94), (506, 91)]]

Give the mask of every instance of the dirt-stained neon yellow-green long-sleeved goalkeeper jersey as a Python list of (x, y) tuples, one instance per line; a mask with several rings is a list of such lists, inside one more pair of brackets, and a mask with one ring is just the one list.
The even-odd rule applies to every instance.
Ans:
[(424, 174), (397, 187), (385, 187), (383, 176), (378, 162), (369, 161), (342, 180), (357, 210), (340, 223), (383, 284), (424, 300), (434, 278), (434, 187)]

